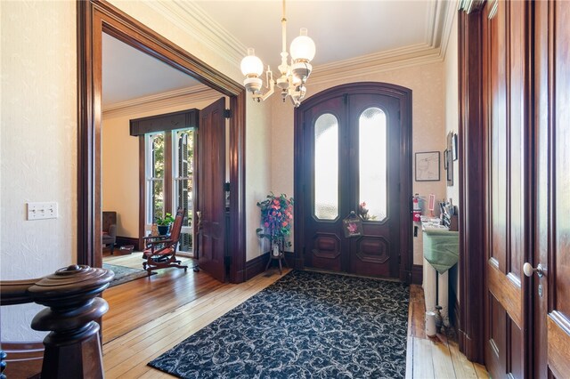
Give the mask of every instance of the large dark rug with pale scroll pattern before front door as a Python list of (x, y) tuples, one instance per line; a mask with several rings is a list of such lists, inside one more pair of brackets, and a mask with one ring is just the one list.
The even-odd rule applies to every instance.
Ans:
[(292, 271), (149, 366), (182, 378), (403, 378), (409, 293)]

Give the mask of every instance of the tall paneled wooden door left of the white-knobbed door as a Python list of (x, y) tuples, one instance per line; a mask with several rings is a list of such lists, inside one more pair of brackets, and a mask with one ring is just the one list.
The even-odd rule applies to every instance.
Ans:
[(532, 215), (527, 6), (488, 2), (483, 10), (487, 131), (485, 365), (493, 377), (523, 377), (529, 302), (523, 263)]

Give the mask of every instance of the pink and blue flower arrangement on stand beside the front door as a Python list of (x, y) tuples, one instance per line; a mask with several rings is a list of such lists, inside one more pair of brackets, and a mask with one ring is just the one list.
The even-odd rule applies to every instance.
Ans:
[(272, 254), (283, 254), (284, 248), (291, 246), (286, 238), (291, 234), (293, 225), (293, 198), (282, 193), (275, 196), (273, 192), (264, 201), (257, 203), (261, 208), (261, 223), (263, 228), (257, 228), (259, 238), (268, 238), (272, 246)]

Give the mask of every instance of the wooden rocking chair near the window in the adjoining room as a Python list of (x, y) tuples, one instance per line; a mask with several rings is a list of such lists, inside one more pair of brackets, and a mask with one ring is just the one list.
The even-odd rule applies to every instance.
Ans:
[(184, 269), (184, 272), (188, 269), (188, 266), (181, 265), (181, 261), (176, 259), (176, 248), (182, 234), (184, 214), (186, 214), (186, 209), (178, 208), (170, 234), (143, 238), (146, 241), (146, 248), (142, 252), (142, 259), (145, 259), (146, 262), (142, 263), (142, 269), (147, 270), (149, 276), (151, 276), (152, 270), (167, 267)]

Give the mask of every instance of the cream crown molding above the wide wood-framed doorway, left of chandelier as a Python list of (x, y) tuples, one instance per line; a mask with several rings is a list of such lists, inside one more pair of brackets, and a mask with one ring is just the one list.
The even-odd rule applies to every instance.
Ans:
[(156, 0), (148, 4), (155, 12), (159, 12), (176, 27), (206, 44), (212, 52), (218, 53), (234, 65), (240, 65), (240, 61), (247, 51), (246, 46), (228, 33), (216, 20), (208, 16), (208, 13), (204, 12), (199, 5), (188, 1), (165, 0)]

